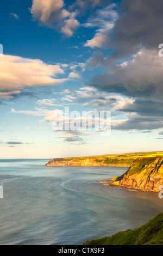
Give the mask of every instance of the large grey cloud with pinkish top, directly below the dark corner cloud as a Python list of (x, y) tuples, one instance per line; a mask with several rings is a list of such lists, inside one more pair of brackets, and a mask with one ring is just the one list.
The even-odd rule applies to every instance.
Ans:
[(126, 63), (110, 66), (104, 62), (104, 66), (105, 73), (91, 81), (98, 89), (132, 97), (162, 97), (163, 62), (158, 50), (143, 48)]

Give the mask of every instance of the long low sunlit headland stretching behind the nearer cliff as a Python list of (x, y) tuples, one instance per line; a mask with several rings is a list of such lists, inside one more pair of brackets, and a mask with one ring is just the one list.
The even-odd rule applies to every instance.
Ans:
[(140, 157), (156, 157), (162, 156), (163, 152), (148, 153), (128, 153), (128, 154), (112, 154), (101, 156), (85, 156), (85, 157), (65, 157), (55, 158), (49, 161), (46, 166), (117, 166), (129, 167), (134, 160)]

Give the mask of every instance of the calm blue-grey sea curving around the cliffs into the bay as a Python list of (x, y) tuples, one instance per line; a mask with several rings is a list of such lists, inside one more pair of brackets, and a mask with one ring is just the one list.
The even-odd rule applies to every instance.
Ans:
[(0, 160), (0, 245), (82, 245), (163, 211), (158, 194), (101, 185), (127, 168), (45, 167), (47, 161)]

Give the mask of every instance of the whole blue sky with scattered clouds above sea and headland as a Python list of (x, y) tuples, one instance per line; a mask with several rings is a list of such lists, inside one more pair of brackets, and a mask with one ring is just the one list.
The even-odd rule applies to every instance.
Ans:
[[(0, 158), (161, 151), (162, 11), (162, 0), (1, 1)], [(80, 120), (111, 112), (111, 132), (55, 131), (65, 107)]]

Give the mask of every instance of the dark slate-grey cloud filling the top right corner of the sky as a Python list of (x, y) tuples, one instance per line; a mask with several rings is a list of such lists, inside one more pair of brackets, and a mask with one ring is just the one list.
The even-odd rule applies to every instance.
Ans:
[(114, 42), (116, 57), (136, 53), (143, 45), (156, 48), (162, 42), (162, 0), (124, 0), (120, 7), (110, 41)]

